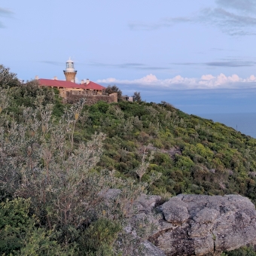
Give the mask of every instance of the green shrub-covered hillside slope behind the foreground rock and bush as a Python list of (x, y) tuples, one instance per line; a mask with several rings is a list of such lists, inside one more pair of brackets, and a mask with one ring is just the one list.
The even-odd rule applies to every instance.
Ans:
[[(143, 151), (154, 159), (142, 180), (161, 177), (153, 194), (242, 194), (255, 200), (256, 139), (221, 123), (184, 114), (169, 104), (99, 102), (85, 107), (77, 141), (105, 133), (99, 165), (117, 175), (138, 178)], [(254, 201), (255, 202), (255, 201)]]

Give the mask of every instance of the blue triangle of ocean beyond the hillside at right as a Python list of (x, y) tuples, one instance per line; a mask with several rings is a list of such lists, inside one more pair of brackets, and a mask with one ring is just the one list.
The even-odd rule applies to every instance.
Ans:
[(256, 113), (197, 114), (200, 117), (224, 123), (233, 129), (256, 139)]

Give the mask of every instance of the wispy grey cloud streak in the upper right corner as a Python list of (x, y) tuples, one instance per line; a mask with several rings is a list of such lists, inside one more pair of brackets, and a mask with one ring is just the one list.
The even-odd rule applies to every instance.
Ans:
[(128, 26), (131, 30), (156, 30), (178, 23), (203, 23), (227, 35), (256, 35), (255, 0), (215, 0), (215, 4), (190, 17), (166, 17), (157, 23), (133, 22)]

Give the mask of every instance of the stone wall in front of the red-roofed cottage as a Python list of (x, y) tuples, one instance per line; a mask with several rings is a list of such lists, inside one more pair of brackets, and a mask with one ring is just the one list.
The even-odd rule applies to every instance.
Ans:
[(110, 95), (101, 95), (93, 93), (78, 94), (74, 93), (73, 91), (68, 91), (66, 92), (66, 99), (64, 99), (64, 101), (72, 104), (84, 98), (86, 99), (86, 105), (93, 105), (94, 103), (99, 101), (111, 103), (117, 102), (117, 93), (112, 93)]

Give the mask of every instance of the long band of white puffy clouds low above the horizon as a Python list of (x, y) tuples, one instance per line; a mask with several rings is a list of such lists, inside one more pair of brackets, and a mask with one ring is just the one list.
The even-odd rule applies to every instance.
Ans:
[(249, 78), (239, 78), (238, 75), (226, 76), (224, 74), (216, 77), (213, 75), (203, 75), (201, 78), (182, 78), (181, 75), (177, 75), (175, 78), (158, 79), (155, 75), (150, 74), (135, 80), (106, 78), (97, 82), (101, 84), (133, 84), (140, 87), (162, 87), (172, 90), (256, 89), (256, 77), (254, 75), (251, 75)]

